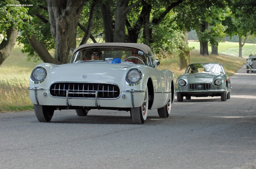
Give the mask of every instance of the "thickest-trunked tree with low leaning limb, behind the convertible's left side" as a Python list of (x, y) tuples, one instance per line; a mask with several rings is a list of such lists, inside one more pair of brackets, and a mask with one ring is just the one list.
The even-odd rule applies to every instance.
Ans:
[[(34, 4), (33, 7), (38, 7), (31, 15), (34, 17), (33, 26), (40, 29), (41, 34), (23, 32), (20, 42), (27, 44), (23, 52), (29, 52), (31, 56), (36, 52), (44, 62), (67, 63), (70, 48), (76, 48), (77, 25), (84, 2), (85, 0), (47, 0), (45, 4), (27, 1), (26, 3)], [(26, 43), (25, 36), (33, 49)], [(52, 48), (53, 57), (49, 53)]]

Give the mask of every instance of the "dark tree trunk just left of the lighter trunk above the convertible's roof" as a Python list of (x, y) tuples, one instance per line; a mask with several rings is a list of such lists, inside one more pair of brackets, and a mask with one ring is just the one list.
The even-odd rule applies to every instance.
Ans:
[(111, 11), (109, 4), (100, 4), (100, 9), (102, 13), (105, 42), (113, 42), (114, 32), (113, 23), (111, 19)]

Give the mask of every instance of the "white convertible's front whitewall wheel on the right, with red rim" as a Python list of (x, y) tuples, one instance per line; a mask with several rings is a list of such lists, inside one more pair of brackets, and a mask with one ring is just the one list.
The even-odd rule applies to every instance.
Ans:
[(134, 124), (143, 124), (148, 116), (148, 86), (144, 97), (144, 102), (140, 107), (131, 108), (131, 118)]

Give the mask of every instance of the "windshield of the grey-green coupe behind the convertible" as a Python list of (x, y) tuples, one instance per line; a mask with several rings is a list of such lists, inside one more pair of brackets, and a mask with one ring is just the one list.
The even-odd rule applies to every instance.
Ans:
[(197, 63), (187, 67), (185, 74), (188, 73), (224, 73), (219, 64), (215, 63)]

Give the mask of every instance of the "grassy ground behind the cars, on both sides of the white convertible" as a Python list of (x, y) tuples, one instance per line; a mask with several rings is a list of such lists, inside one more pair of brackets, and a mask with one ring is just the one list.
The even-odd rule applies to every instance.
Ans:
[[(245, 44), (243, 48), (243, 51), (246, 49), (243, 53), (244, 58), (238, 58), (238, 51), (233, 50), (233, 48), (238, 47), (238, 43), (228, 42), (220, 44), (220, 56), (210, 55), (203, 57), (199, 55), (198, 42), (190, 41), (189, 46), (195, 46), (195, 50), (191, 51), (191, 63), (219, 62), (223, 64), (229, 76), (245, 64), (245, 58), (248, 57), (249, 53), (256, 53), (256, 47), (253, 44)], [(26, 60), (27, 55), (21, 53), (20, 50), (21, 46), (16, 45), (11, 55), (0, 67), (0, 112), (33, 110), (33, 104), (30, 102), (27, 88), (29, 87), (31, 71), (37, 64), (42, 63), (42, 61), (37, 63), (28, 62)], [(158, 69), (173, 71), (175, 80), (185, 71), (185, 69), (180, 70), (179, 60), (170, 58), (162, 59)]]

